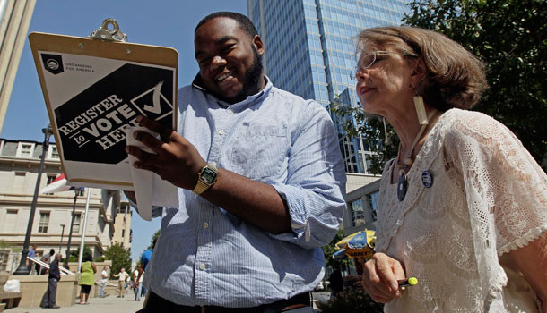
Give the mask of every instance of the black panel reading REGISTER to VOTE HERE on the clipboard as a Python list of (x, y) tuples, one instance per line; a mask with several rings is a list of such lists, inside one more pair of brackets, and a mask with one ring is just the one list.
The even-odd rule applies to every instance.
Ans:
[(118, 164), (127, 126), (145, 115), (173, 124), (173, 72), (125, 64), (55, 109), (65, 160)]

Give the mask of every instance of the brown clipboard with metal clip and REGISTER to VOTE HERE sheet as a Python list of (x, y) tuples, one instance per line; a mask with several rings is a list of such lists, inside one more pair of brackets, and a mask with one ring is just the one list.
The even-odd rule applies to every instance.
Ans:
[(112, 19), (90, 37), (29, 35), (65, 178), (134, 190), (124, 130), (141, 114), (176, 129), (178, 52), (124, 42)]

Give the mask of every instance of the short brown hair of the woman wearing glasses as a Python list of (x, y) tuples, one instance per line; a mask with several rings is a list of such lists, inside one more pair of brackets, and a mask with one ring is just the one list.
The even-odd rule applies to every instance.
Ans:
[(365, 50), (386, 49), (409, 58), (421, 58), (426, 72), (416, 93), (429, 105), (446, 111), (468, 109), (488, 88), (484, 64), (456, 41), (433, 30), (414, 27), (378, 27), (362, 30), (356, 54)]

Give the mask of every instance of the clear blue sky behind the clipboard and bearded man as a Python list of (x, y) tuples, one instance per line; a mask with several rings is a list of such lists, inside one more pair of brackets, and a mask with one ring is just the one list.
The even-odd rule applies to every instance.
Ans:
[[(178, 51), (178, 86), (189, 84), (197, 72), (194, 29), (205, 15), (217, 11), (247, 13), (247, 0), (38, 0), (29, 33), (33, 31), (87, 37), (106, 18), (114, 18), (131, 43), (173, 47)], [(49, 123), (36, 66), (27, 41), (13, 84), (0, 137), (42, 141)], [(52, 138), (53, 139), (53, 138)], [(134, 213), (132, 258), (150, 244), (160, 220), (146, 222)]]

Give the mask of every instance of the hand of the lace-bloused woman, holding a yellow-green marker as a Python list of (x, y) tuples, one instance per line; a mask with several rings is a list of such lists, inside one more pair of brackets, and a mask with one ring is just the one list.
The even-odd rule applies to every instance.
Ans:
[(372, 300), (387, 303), (401, 296), (397, 280), (404, 279), (401, 262), (384, 253), (375, 253), (363, 266), (363, 287)]

